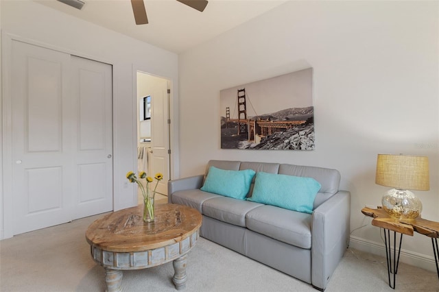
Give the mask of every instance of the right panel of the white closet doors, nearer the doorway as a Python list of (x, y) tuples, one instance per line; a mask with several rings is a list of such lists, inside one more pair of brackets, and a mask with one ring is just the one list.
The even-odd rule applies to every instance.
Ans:
[(112, 66), (72, 56), (73, 219), (112, 210)]

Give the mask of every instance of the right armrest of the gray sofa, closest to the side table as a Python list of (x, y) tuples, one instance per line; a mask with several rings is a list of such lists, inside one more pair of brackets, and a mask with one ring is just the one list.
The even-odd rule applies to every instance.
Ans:
[(324, 290), (348, 247), (351, 193), (338, 191), (313, 211), (311, 282)]

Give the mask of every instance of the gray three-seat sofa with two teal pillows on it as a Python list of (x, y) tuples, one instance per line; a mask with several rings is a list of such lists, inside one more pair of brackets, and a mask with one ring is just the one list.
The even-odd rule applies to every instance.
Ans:
[[(314, 178), (321, 184), (312, 214), (201, 191), (209, 167)], [(335, 169), (211, 160), (206, 173), (168, 183), (168, 202), (203, 215), (200, 235), (323, 291), (348, 246), (350, 193)], [(252, 195), (254, 178), (250, 193)]]

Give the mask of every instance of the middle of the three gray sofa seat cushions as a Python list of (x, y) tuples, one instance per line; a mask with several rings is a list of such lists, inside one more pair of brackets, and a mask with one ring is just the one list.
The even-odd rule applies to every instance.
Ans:
[(246, 227), (246, 214), (260, 206), (263, 204), (219, 196), (204, 201), (202, 214), (235, 226)]

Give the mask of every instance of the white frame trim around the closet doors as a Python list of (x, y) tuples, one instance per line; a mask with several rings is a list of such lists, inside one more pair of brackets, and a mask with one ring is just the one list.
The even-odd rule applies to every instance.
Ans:
[[(109, 60), (103, 60), (102, 58), (96, 56), (88, 56), (84, 53), (80, 53), (77, 51), (72, 51), (69, 49), (64, 49), (60, 47), (56, 47), (54, 45), (47, 44), (45, 42), (39, 42), (37, 40), (32, 40), (29, 38), (23, 38), (21, 36), (16, 36), (15, 34), (10, 34), (7, 32), (3, 32), (1, 34), (1, 84), (2, 84), (2, 108), (0, 108), (3, 114), (3, 121), (1, 124), (1, 136), (2, 136), (2, 152), (0, 165), (3, 167), (3, 173), (1, 173), (1, 182), (3, 183), (3, 187), (0, 188), (0, 240), (8, 239), (14, 236), (14, 214), (13, 214), (13, 196), (12, 196), (12, 93), (10, 88), (11, 83), (11, 60), (12, 60), (12, 42), (19, 41), (25, 42), (29, 45), (35, 45), (38, 47), (43, 47), (45, 49), (51, 49), (54, 51), (60, 51), (61, 53), (68, 53), (73, 56), (78, 56), (80, 58), (86, 58), (90, 60), (94, 60), (97, 62), (102, 62), (106, 64), (110, 64), (112, 66), (112, 151), (113, 154), (117, 152), (117, 144), (115, 143), (115, 129), (117, 123), (117, 115), (115, 114), (115, 92), (117, 92), (117, 86), (115, 86), (115, 64)], [(115, 164), (116, 161), (113, 155), (113, 165), (112, 165), (112, 197), (113, 197), (113, 210), (115, 209)], [(7, 208), (6, 206), (11, 206)]]

